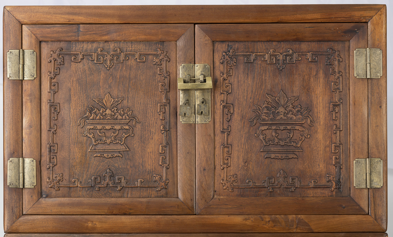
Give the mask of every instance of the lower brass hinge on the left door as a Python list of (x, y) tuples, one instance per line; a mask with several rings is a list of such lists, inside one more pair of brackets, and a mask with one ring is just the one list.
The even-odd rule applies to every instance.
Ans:
[(36, 161), (31, 158), (10, 158), (7, 185), (10, 188), (34, 188), (37, 185)]

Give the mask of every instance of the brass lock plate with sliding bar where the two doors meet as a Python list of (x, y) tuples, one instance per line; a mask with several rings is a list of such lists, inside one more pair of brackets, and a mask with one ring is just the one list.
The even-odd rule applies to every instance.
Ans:
[(177, 88), (180, 90), (180, 121), (208, 123), (211, 120), (210, 88), (213, 88), (209, 64), (182, 64)]

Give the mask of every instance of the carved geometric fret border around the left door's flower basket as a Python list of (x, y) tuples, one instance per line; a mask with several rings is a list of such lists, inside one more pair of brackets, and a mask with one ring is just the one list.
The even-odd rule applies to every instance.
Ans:
[[(79, 179), (72, 179), (70, 184), (62, 184), (63, 174), (54, 174), (54, 168), (57, 165), (57, 150), (58, 144), (55, 142), (55, 134), (57, 131), (57, 125), (54, 123), (60, 112), (60, 104), (55, 102), (55, 94), (59, 91), (59, 83), (55, 81), (56, 75), (60, 73), (61, 65), (64, 65), (64, 55), (72, 55), (71, 62), (81, 62), (81, 60), (87, 56), (91, 61), (96, 64), (104, 64), (104, 66), (110, 70), (114, 64), (123, 63), (124, 60), (129, 60), (130, 57), (136, 59), (137, 62), (146, 62), (146, 57), (154, 55), (153, 64), (158, 67), (158, 75), (161, 75), (163, 82), (159, 84), (159, 90), (163, 94), (163, 102), (158, 103), (157, 113), (159, 115), (161, 124), (161, 133), (163, 134), (163, 143), (160, 144), (160, 166), (163, 167), (162, 174), (153, 174), (153, 183), (143, 184), (144, 179), (138, 179), (136, 181), (129, 182), (124, 176), (116, 176), (112, 180), (113, 173), (111, 170), (107, 170), (103, 173), (103, 181), (101, 182), (100, 175), (94, 175), (92, 179), (86, 183), (82, 183)], [(169, 116), (165, 116), (165, 113), (169, 112), (169, 71), (167, 71), (167, 62), (169, 62), (167, 51), (162, 51), (157, 48), (157, 51), (151, 52), (122, 52), (120, 48), (115, 48), (112, 52), (104, 52), (103, 48), (97, 49), (94, 52), (78, 52), (78, 51), (63, 51), (59, 48), (55, 51), (50, 51), (48, 62), (51, 63), (51, 70), (48, 72), (48, 83), (51, 94), (50, 100), (48, 100), (48, 131), (50, 133), (50, 141), (48, 142), (48, 161), (47, 169), (50, 170), (50, 176), (47, 179), (50, 188), (59, 190), (60, 187), (94, 187), (99, 190), (100, 187), (116, 187), (117, 190), (124, 188), (156, 188), (157, 191), (167, 188), (169, 179), (167, 179), (167, 169), (169, 169)]]

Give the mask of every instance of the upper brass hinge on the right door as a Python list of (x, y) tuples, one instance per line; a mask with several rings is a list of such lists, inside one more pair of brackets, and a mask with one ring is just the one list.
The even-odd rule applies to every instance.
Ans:
[(382, 76), (381, 49), (356, 49), (354, 55), (355, 77), (380, 78)]

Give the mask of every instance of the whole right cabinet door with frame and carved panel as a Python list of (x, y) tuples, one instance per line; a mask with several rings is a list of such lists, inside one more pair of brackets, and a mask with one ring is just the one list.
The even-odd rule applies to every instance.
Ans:
[(369, 190), (353, 182), (354, 159), (369, 156), (368, 82), (353, 71), (367, 24), (195, 33), (195, 63), (214, 74), (214, 122), (196, 125), (196, 144), (207, 144), (196, 146), (197, 213), (368, 214)]

